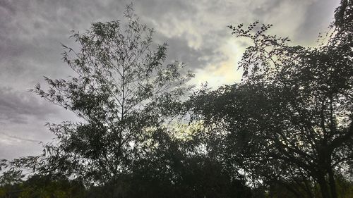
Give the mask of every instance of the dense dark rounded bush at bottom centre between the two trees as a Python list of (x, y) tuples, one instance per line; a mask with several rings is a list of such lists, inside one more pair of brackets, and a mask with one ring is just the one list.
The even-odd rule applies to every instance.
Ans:
[(195, 125), (188, 127), (193, 132), (186, 140), (164, 131), (155, 134), (158, 147), (136, 163), (128, 197), (251, 197), (244, 180), (198, 151), (202, 131)]

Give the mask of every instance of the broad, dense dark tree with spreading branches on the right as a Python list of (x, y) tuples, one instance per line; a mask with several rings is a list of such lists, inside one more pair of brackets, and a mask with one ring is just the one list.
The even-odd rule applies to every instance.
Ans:
[(229, 166), (297, 197), (314, 197), (315, 183), (321, 197), (337, 197), (335, 175), (353, 160), (352, 9), (341, 1), (320, 47), (289, 46), (265, 34), (271, 25), (229, 26), (253, 42), (240, 62), (243, 82), (191, 99), (222, 135), (215, 151)]

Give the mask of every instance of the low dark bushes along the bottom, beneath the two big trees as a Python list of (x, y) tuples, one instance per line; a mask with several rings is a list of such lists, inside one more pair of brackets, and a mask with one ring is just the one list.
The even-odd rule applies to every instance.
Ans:
[(251, 197), (244, 180), (232, 178), (218, 161), (196, 152), (201, 144), (196, 137), (181, 140), (171, 133), (151, 133), (155, 149), (119, 180), (83, 187), (77, 180), (33, 175), (1, 190), (11, 197)]

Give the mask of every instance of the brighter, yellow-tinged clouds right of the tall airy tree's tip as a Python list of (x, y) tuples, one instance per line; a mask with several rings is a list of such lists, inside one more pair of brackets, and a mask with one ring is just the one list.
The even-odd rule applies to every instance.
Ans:
[[(237, 62), (244, 51), (244, 45), (230, 35), (227, 25), (237, 23), (273, 24), (270, 34), (289, 36), (293, 44), (312, 44), (318, 32), (316, 27), (328, 24), (328, 18), (316, 17), (315, 22), (307, 18), (321, 16), (318, 8), (331, 10), (332, 3), (317, 0), (257, 0), (257, 1), (143, 1), (136, 3), (136, 10), (152, 27), (155, 27), (159, 37), (165, 37), (170, 42), (170, 49), (176, 44), (175, 54), (181, 54), (181, 61), (191, 63), (191, 70), (196, 73), (198, 84), (208, 81), (217, 86), (220, 83), (239, 82), (241, 71), (237, 71)], [(156, 6), (158, 5), (158, 6)], [(316, 12), (313, 12), (316, 11)], [(303, 31), (305, 24), (314, 27)], [(232, 43), (232, 39), (234, 40)], [(178, 42), (174, 42), (174, 41)], [(179, 44), (183, 42), (182, 45)], [(237, 54), (229, 53), (229, 43)], [(183, 56), (186, 54), (186, 56)], [(172, 55), (173, 56), (173, 55)], [(183, 59), (184, 58), (184, 59)], [(185, 61), (186, 60), (186, 61)], [(227, 70), (227, 71), (225, 71)]]

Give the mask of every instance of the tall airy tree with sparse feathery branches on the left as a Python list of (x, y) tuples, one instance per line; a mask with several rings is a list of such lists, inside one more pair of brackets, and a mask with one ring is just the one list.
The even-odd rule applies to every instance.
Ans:
[(165, 128), (193, 75), (181, 71), (181, 63), (164, 65), (167, 44), (152, 50), (153, 30), (139, 23), (132, 6), (124, 16), (125, 26), (116, 20), (73, 32), (79, 51), (63, 44), (63, 60), (74, 75), (45, 78), (47, 91), (40, 85), (31, 91), (81, 121), (48, 123), (56, 138), (44, 145), (43, 154), (11, 165), (106, 185), (130, 173), (133, 162), (148, 152), (148, 134)]

